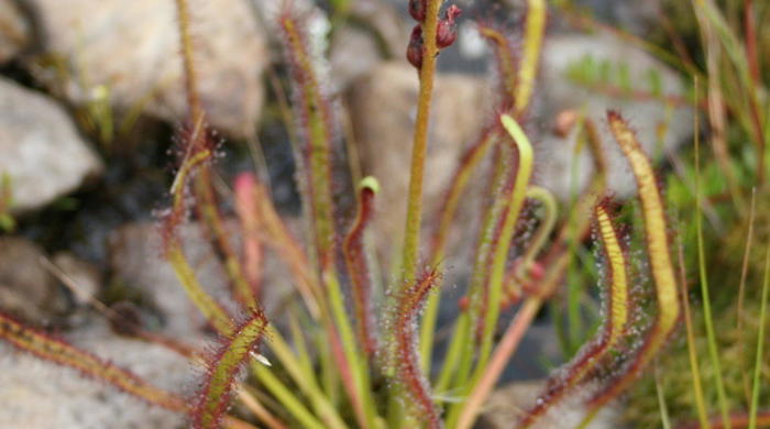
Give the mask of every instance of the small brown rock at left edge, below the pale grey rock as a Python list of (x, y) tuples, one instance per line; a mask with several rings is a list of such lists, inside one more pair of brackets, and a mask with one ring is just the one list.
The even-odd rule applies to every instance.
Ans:
[[(0, 238), (0, 309), (34, 323), (67, 307), (63, 290), (40, 264), (43, 250), (25, 239)], [(2, 425), (0, 425), (2, 427)]]

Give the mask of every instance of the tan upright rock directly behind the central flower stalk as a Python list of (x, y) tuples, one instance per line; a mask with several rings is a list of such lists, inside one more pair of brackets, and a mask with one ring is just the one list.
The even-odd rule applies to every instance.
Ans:
[[(426, 160), (426, 213), (435, 213), (463, 148), (486, 123), (488, 91), (476, 78), (436, 79)], [(383, 63), (353, 82), (349, 107), (364, 174), (380, 179), (373, 221), (377, 253), (387, 261), (400, 246), (406, 218), (418, 79), (406, 62)]]

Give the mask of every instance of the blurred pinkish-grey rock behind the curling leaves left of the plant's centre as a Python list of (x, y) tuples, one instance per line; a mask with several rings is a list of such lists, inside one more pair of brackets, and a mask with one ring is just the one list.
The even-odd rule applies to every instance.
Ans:
[[(240, 249), (234, 224), (229, 223), (233, 249)], [(179, 234), (185, 254), (204, 289), (238, 317), (241, 310), (230, 294), (227, 274), (200, 226), (185, 224)], [(157, 309), (165, 333), (176, 338), (200, 337), (206, 320), (190, 301), (172, 265), (162, 256), (162, 238), (155, 223), (133, 223), (116, 230), (109, 239), (113, 282), (138, 292)], [(279, 322), (276, 311), (293, 292), (290, 276), (272, 254), (264, 262), (262, 305), (271, 322)]]

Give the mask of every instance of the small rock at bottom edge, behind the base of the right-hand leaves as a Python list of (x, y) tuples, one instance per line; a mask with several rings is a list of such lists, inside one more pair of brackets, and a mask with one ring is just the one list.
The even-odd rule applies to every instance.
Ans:
[[(517, 421), (521, 413), (531, 407), (542, 393), (543, 381), (515, 382), (503, 386), (490, 395), (485, 408), (474, 426), (474, 429), (507, 429), (512, 422)], [(574, 428), (578, 427), (585, 411), (580, 399), (585, 395), (584, 391), (575, 392), (561, 403), (554, 405), (532, 429)], [(618, 429), (620, 413), (617, 405), (604, 407), (586, 429)]]

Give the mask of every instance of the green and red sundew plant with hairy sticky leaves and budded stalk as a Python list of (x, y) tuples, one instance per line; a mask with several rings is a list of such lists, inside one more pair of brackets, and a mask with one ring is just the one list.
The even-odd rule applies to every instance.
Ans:
[[(531, 184), (538, 142), (528, 132), (534, 120), (529, 107), (538, 96), (548, 10), (544, 0), (528, 0), (515, 28), (477, 23), (495, 58), (498, 96), (490, 106), (494, 113), (475, 141), (469, 142), (446, 184), (439, 215), (427, 216), (422, 179), (436, 61), (455, 41), (455, 19), (462, 11), (441, 0), (405, 2), (415, 20), (405, 56), (415, 67), (420, 89), (411, 162), (403, 172), (410, 182), (404, 242), (397, 243), (402, 250), (394, 270), (397, 276), (375, 278), (366, 245), (372, 219), (389, 215), (388, 208), (377, 205), (387, 178), (365, 177), (354, 184), (354, 212), (345, 212), (338, 204), (345, 187), (336, 180), (348, 172), (338, 170), (344, 165), (340, 162), (344, 142), (338, 107), (329, 94), (329, 74), (334, 70), (327, 69), (319, 44), (308, 32), (320, 12), (290, 1), (279, 2), (266, 19), (283, 42), (288, 69), (290, 112), (285, 113), (292, 119), (306, 237), (290, 232), (266, 185), (256, 175), (243, 173), (233, 183), (234, 200), (230, 201), (241, 235), (239, 246), (233, 244), (222, 210), (226, 196), (213, 185), (219, 142), (198, 96), (191, 6), (176, 0), (188, 112), (176, 139), (169, 207), (158, 228), (164, 257), (220, 341), (215, 350), (201, 351), (148, 336), (134, 326), (123, 326), (122, 331), (172, 346), (205, 365), (198, 392), (184, 398), (162, 391), (6, 315), (0, 315), (0, 338), (153, 406), (186, 414), (194, 428), (469, 429), (528, 327), (558, 293), (575, 246), (593, 237), (603, 273), (600, 327), (571, 361), (553, 372), (536, 402), (528, 408), (512, 404), (525, 407), (512, 427), (553, 427), (565, 403), (580, 411), (579, 418), (559, 427), (586, 427), (650, 366), (682, 317), (673, 233), (656, 172), (623, 113), (608, 111), (606, 124), (576, 121), (580, 139), (593, 155), (594, 173), (572, 206), (559, 208), (547, 189)], [(616, 221), (619, 204), (605, 190), (606, 161), (597, 132), (597, 127), (605, 125), (636, 178), (640, 215), (632, 227), (641, 237), (639, 252), (629, 252), (629, 228)], [(485, 165), (490, 172), (481, 170)], [(488, 176), (492, 186), (485, 204), (475, 208), (482, 222), (469, 261), (472, 275), (457, 304), (447, 352), (437, 359), (440, 292), (450, 270), (443, 265), (451, 251), (448, 234), (474, 175)], [(179, 237), (180, 226), (190, 218), (211, 239), (228, 274), (229, 294), (240, 306), (238, 312), (199, 283)], [(531, 238), (516, 240), (525, 222), (535, 226)], [(428, 231), (428, 237), (421, 237), (421, 231)], [(262, 310), (263, 290), (271, 287), (263, 284), (265, 252), (277, 256), (296, 287), (294, 310), (272, 316), (285, 318), (288, 332), (276, 329)], [(639, 257), (644, 264), (635, 261)], [(640, 265), (647, 270), (645, 275), (637, 273)], [(384, 290), (376, 289), (381, 284)], [(515, 315), (507, 324), (504, 312)], [(240, 407), (231, 408), (233, 404)]]

